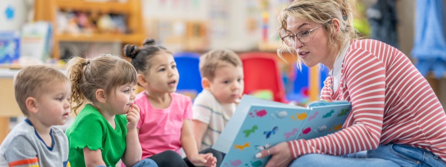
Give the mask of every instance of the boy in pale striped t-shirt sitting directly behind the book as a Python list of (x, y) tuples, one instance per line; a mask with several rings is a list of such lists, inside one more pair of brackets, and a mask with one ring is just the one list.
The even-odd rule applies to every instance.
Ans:
[(216, 49), (200, 57), (203, 91), (195, 98), (192, 127), (200, 150), (214, 145), (244, 89), (243, 67), (239, 56)]

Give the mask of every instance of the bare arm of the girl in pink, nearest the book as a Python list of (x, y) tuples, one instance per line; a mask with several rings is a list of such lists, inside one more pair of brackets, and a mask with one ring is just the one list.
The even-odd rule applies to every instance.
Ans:
[(217, 159), (212, 153), (198, 154), (197, 144), (192, 133), (192, 125), (190, 119), (183, 120), (183, 127), (181, 128), (181, 146), (186, 153), (187, 159), (196, 167), (215, 167)]

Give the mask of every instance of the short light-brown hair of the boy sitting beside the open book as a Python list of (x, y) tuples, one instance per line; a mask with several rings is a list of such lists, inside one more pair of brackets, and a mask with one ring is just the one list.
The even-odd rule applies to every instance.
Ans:
[(207, 53), (204, 53), (200, 57), (200, 74), (201, 77), (206, 77), (212, 81), (215, 77), (215, 70), (222, 66), (222, 62), (227, 62), (235, 67), (241, 67), (242, 61), (240, 57), (231, 50), (228, 49), (214, 49)]

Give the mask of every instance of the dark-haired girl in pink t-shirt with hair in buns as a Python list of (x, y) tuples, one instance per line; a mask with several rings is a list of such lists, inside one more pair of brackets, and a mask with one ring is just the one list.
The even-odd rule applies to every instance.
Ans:
[[(126, 45), (124, 53), (132, 58), (138, 84), (146, 90), (135, 99), (141, 110), (137, 128), (142, 158), (153, 159), (161, 167), (215, 167), (217, 158), (221, 158), (218, 152), (198, 153), (191, 128), (190, 98), (174, 93), (179, 76), (172, 53), (155, 45), (153, 39), (145, 40), (141, 48)], [(187, 159), (179, 155), (181, 147)]]

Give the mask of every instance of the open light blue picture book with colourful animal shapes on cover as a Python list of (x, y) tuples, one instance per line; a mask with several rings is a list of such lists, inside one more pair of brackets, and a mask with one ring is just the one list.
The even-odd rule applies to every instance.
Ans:
[(226, 154), (221, 167), (263, 167), (271, 156), (257, 159), (256, 153), (277, 143), (339, 131), (350, 111), (347, 101), (302, 107), (244, 95), (212, 148)]

